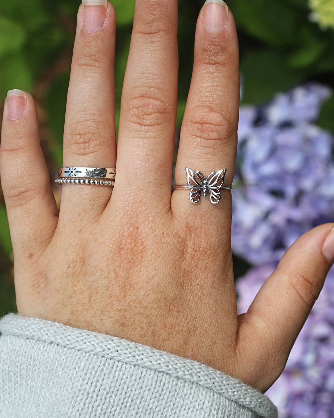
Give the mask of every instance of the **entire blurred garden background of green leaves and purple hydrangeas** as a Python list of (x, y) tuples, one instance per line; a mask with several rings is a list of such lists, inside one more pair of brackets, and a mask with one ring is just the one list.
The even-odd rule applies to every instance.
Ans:
[[(0, 0), (0, 107), (9, 89), (33, 94), (56, 199), (63, 124), (80, 0)], [(116, 121), (134, 0), (117, 14)], [(179, 0), (180, 130), (204, 1)], [(239, 311), (308, 229), (334, 221), (334, 0), (230, 0), (240, 45), (241, 103), (233, 194)], [(118, 123), (118, 122), (117, 122)], [(177, 153), (177, 135), (175, 156)], [(269, 390), (286, 418), (334, 417), (334, 272)], [(13, 251), (0, 190), (0, 316), (15, 311)]]

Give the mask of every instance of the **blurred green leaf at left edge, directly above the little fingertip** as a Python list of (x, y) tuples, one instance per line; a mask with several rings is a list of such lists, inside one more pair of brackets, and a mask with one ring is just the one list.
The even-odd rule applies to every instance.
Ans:
[(1, 95), (6, 97), (8, 90), (21, 89), (31, 92), (33, 76), (22, 51), (5, 56), (0, 61)]

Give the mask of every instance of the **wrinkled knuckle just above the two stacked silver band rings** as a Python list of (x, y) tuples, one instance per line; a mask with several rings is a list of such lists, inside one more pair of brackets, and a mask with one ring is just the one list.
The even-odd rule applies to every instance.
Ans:
[[(101, 151), (106, 143), (107, 128), (92, 121), (80, 122), (70, 127), (68, 148), (74, 155), (87, 155)], [(109, 138), (113, 135), (110, 133)]]

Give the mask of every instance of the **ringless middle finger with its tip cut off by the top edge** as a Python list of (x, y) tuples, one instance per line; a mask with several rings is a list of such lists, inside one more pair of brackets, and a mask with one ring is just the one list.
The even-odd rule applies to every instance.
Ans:
[(177, 0), (137, 0), (112, 200), (170, 207), (177, 68)]

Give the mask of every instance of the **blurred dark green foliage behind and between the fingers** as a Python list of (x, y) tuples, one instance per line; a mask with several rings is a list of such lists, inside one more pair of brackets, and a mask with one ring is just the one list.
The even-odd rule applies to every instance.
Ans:
[[(50, 177), (62, 165), (63, 124), (80, 0), (0, 0), (0, 96), (9, 89), (33, 94)], [(116, 117), (132, 31), (134, 0), (114, 0)], [(180, 75), (177, 127), (189, 89), (195, 24), (204, 0), (179, 0)], [(334, 32), (309, 21), (306, 0), (230, 0), (238, 28), (243, 104), (258, 104), (307, 80), (334, 87)], [(334, 97), (319, 125), (334, 132)], [(235, 258), (235, 273), (248, 265)], [(0, 316), (15, 311), (13, 251), (0, 193)]]

